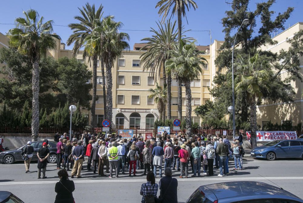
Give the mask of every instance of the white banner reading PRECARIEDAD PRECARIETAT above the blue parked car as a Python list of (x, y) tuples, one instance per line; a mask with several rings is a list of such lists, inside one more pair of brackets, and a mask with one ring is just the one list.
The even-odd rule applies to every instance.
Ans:
[(272, 140), (296, 140), (295, 131), (256, 131), (257, 142)]

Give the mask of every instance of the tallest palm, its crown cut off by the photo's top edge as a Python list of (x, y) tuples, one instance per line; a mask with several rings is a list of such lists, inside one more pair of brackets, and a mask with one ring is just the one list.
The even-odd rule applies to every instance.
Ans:
[[(182, 38), (182, 15), (186, 18), (186, 10), (189, 11), (189, 8), (193, 7), (194, 10), (198, 8), (198, 5), (193, 0), (160, 0), (156, 8), (159, 7), (158, 14), (163, 15), (162, 21), (167, 18), (171, 11), (171, 16), (177, 15), (178, 17), (178, 39), (179, 39), (179, 49), (181, 49), (181, 38)], [(177, 77), (178, 85), (178, 119), (182, 119), (182, 88), (181, 88), (181, 79)]]

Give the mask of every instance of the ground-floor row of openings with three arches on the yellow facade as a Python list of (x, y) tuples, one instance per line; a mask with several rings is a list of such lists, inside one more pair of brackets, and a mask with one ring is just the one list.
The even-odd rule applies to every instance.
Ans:
[[(102, 121), (104, 120), (104, 115), (96, 115), (96, 121), (97, 121), (97, 126), (100, 127), (102, 126)], [(172, 116), (171, 119), (177, 119), (178, 116)], [(183, 116), (182, 119), (185, 119)], [(192, 120), (194, 123), (198, 123), (200, 125), (200, 117), (194, 116), (192, 117)], [(125, 121), (125, 116), (122, 113), (119, 113), (116, 115), (115, 118), (115, 125), (116, 129), (124, 129), (128, 128), (128, 126), (125, 126), (124, 121)], [(155, 123), (155, 116), (153, 114), (147, 114), (145, 117), (145, 129), (153, 129), (154, 128), (154, 123)], [(136, 128), (141, 128), (141, 116), (140, 114), (134, 112), (130, 115), (129, 117), (129, 128), (130, 129), (136, 129)]]

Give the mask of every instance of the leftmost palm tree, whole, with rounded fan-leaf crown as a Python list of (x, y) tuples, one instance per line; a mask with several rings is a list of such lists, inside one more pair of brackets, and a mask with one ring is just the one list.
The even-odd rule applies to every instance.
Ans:
[(46, 56), (48, 50), (57, 47), (56, 39), (61, 38), (53, 33), (53, 21), (43, 23), (43, 16), (35, 10), (23, 11), (25, 18), (16, 18), (16, 27), (8, 31), (8, 38), (12, 47), (27, 54), (32, 70), (32, 140), (38, 140), (39, 133), (39, 61)]

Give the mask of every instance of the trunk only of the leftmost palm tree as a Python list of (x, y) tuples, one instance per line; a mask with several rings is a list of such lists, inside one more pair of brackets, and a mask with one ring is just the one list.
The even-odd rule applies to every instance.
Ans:
[(39, 59), (36, 57), (33, 62), (33, 76), (32, 76), (32, 141), (38, 140), (39, 133)]

